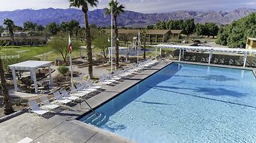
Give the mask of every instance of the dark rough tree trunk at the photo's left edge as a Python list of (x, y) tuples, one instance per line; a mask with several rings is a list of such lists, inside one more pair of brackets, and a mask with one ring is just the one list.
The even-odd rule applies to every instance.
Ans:
[(3, 68), (3, 63), (1, 61), (1, 58), (0, 58), (0, 78), (1, 78), (1, 91), (4, 97), (4, 114), (9, 115), (9, 114), (12, 114), (14, 111), (13, 111), (12, 103), (10, 102), (9, 92), (8, 92), (6, 80), (4, 77), (4, 68)]

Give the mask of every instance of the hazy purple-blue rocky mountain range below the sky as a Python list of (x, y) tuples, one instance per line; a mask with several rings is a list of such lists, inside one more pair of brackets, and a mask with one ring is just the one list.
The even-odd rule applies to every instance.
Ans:
[[(249, 13), (256, 12), (256, 9), (237, 9), (230, 12), (194, 12), (194, 11), (178, 11), (173, 13), (137, 13), (133, 11), (125, 11), (119, 16), (120, 27), (145, 27), (147, 25), (156, 24), (157, 21), (168, 21), (176, 19), (194, 18), (197, 23), (214, 22), (216, 24), (229, 24), (232, 21), (243, 18)], [(104, 16), (104, 10), (98, 9), (88, 13), (91, 24), (107, 27), (110, 25), (110, 17)], [(46, 25), (55, 21), (70, 21), (74, 19), (84, 24), (84, 17), (81, 10), (77, 9), (42, 9), (42, 10), (14, 10), (0, 12), (0, 21), (4, 18), (12, 19), (16, 25), (22, 26), (25, 21), (33, 21), (37, 24)], [(2, 25), (2, 22), (0, 22)]]

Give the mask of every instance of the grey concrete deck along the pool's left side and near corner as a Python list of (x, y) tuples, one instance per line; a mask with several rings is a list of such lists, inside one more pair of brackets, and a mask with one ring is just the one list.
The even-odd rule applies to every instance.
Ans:
[[(168, 60), (171, 63), (171, 60)], [(165, 63), (159, 63), (151, 69), (135, 74), (133, 77), (128, 77), (122, 80), (116, 86), (104, 86), (105, 91), (96, 94), (94, 97), (88, 99), (88, 103), (96, 108), (102, 105), (103, 102), (111, 100), (120, 92), (139, 83), (145, 77), (154, 74), (155, 72), (167, 66)], [(12, 119), (8, 119), (0, 124), (0, 141), (3, 143), (19, 142), (25, 137), (33, 139), (33, 142), (132, 142), (128, 139), (116, 136), (105, 130), (88, 125), (76, 120), (77, 117), (82, 116), (89, 111), (88, 105), (82, 102), (80, 108), (79, 104), (75, 104), (69, 108), (59, 109), (56, 113), (51, 113), (45, 117), (39, 117), (30, 113), (24, 113)]]

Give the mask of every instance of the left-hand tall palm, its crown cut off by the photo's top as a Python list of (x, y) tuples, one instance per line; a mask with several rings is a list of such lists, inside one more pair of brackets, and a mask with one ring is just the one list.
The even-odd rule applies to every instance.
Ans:
[(88, 57), (88, 74), (89, 78), (93, 78), (93, 52), (91, 49), (91, 30), (88, 23), (88, 4), (91, 7), (97, 7), (99, 3), (98, 0), (69, 0), (70, 7), (82, 7), (82, 12), (85, 15), (85, 38), (86, 38), (86, 48)]

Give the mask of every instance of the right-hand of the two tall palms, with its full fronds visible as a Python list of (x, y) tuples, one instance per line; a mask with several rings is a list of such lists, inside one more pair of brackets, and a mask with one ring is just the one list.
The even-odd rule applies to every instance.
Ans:
[(117, 40), (118, 38), (118, 28), (117, 28), (117, 22), (116, 18), (118, 17), (119, 14), (125, 12), (125, 7), (122, 4), (119, 4), (117, 0), (111, 0), (109, 3), (109, 8), (105, 8), (105, 15), (110, 15), (111, 14), (111, 7), (113, 9), (113, 18), (114, 18), (114, 35), (115, 35), (115, 49), (116, 49), (116, 69), (119, 68), (119, 41)]

